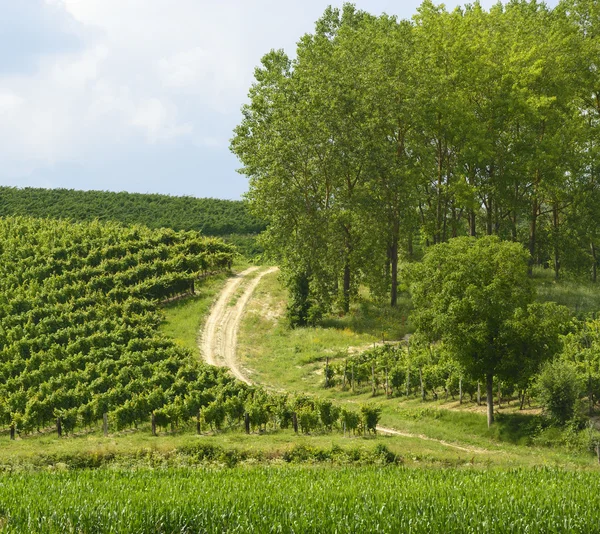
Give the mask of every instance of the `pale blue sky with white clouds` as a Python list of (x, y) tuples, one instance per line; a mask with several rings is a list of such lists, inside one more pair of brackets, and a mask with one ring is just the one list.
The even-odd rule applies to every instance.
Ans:
[[(355, 2), (399, 18), (420, 3)], [(229, 139), (254, 68), (293, 55), (329, 4), (0, 0), (0, 185), (241, 198)]]

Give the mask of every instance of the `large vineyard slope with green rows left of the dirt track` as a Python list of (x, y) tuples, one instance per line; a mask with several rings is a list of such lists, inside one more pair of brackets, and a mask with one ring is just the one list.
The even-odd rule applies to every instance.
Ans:
[[(231, 267), (196, 232), (0, 219), (0, 424), (178, 425), (232, 379), (158, 332), (160, 303)], [(233, 385), (233, 384), (232, 384)]]

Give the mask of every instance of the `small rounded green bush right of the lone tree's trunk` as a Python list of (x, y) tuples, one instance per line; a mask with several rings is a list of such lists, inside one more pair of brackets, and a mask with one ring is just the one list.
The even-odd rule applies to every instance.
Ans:
[(582, 384), (572, 363), (561, 359), (548, 362), (536, 386), (542, 405), (554, 421), (564, 425), (573, 418)]

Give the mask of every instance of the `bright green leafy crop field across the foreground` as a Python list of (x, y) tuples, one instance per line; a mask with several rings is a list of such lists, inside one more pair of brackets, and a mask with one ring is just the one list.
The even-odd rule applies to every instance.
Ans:
[(292, 466), (0, 476), (0, 528), (11, 533), (587, 533), (597, 531), (599, 510), (597, 474), (553, 469)]

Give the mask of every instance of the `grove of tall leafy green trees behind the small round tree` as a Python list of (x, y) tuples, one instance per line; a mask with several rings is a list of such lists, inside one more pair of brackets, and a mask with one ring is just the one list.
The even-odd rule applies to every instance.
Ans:
[(600, 4), (426, 0), (412, 20), (327, 8), (255, 70), (232, 151), (306, 319), (461, 235), (596, 281)]

